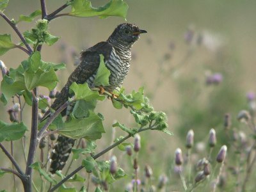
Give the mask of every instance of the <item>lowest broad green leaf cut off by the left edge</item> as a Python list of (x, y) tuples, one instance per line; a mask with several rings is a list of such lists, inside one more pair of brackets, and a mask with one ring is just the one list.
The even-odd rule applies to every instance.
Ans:
[(20, 124), (6, 124), (0, 120), (0, 142), (19, 140), (27, 130), (22, 122)]

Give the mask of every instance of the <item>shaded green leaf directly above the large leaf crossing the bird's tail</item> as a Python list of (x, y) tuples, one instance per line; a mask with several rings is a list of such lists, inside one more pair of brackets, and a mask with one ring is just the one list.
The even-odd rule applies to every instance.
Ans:
[(93, 111), (96, 107), (96, 104), (97, 100), (77, 100), (72, 113), (76, 118), (88, 117), (89, 111)]

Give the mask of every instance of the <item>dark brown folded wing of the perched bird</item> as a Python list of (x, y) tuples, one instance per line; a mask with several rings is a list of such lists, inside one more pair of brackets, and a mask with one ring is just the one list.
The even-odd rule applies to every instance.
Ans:
[[(72, 74), (68, 77), (67, 84), (62, 88), (58, 97), (54, 100), (51, 108), (57, 110), (60, 108), (65, 102), (67, 102), (69, 94), (69, 86), (76, 82), (77, 84), (83, 84), (86, 82), (88, 78), (90, 78), (99, 68), (100, 64), (100, 54), (104, 56), (104, 61), (108, 60), (109, 55), (112, 51), (113, 47), (108, 42), (100, 42), (99, 44), (90, 47), (86, 51), (81, 52), (81, 63), (77, 66), (77, 68), (72, 72)], [(47, 111), (49, 112), (49, 111)], [(65, 110), (62, 115), (65, 115)], [(44, 118), (47, 118), (49, 113), (44, 115)]]

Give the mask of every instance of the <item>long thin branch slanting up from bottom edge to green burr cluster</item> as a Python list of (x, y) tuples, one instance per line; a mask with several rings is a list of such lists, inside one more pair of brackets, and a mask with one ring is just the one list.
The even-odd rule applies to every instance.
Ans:
[[(157, 130), (157, 127), (145, 127), (142, 129), (139, 129), (137, 132), (142, 132), (142, 131), (147, 131), (147, 130)], [(124, 138), (122, 138), (122, 140), (117, 141), (116, 143), (113, 143), (113, 145), (110, 145), (108, 148), (105, 148), (104, 150), (102, 150), (101, 152), (99, 152), (99, 154), (96, 154), (95, 156), (92, 156), (93, 159), (97, 159), (100, 156), (102, 156), (103, 154), (106, 154), (106, 152), (108, 152), (109, 150), (111, 150), (112, 148), (116, 147), (117, 145), (120, 145), (121, 143), (123, 143), (125, 140), (131, 138), (131, 136), (133, 136), (132, 134), (128, 134), (127, 136), (125, 136)], [(61, 180), (60, 182), (58, 182), (58, 184), (56, 184), (55, 186), (53, 186), (53, 188), (51, 188), (49, 190), (49, 192), (52, 192), (56, 189), (58, 189), (61, 184), (63, 184), (64, 182), (66, 182), (68, 179), (70, 179), (73, 175), (75, 175), (77, 172), (79, 172), (81, 169), (83, 169), (84, 166), (79, 166), (78, 168), (76, 168), (76, 170), (74, 170), (73, 172), (69, 173), (63, 180)]]

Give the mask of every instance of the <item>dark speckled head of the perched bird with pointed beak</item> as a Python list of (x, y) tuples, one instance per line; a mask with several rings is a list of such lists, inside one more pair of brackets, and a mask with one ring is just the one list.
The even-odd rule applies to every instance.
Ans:
[(115, 28), (115, 31), (109, 36), (109, 40), (118, 44), (132, 45), (140, 38), (141, 33), (147, 33), (147, 31), (134, 24), (123, 23)]

